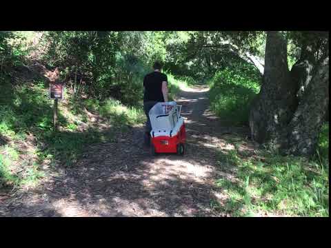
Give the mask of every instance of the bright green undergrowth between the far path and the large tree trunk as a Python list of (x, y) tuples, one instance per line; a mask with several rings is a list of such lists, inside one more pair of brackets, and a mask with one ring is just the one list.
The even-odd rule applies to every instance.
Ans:
[(260, 81), (261, 75), (248, 63), (236, 63), (217, 72), (209, 81), (212, 110), (232, 125), (247, 124)]

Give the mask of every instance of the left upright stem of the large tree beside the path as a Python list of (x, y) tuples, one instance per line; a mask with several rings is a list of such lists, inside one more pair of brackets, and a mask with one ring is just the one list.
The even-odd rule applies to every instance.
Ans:
[(250, 111), (252, 138), (278, 149), (283, 143), (281, 130), (290, 122), (297, 107), (297, 85), (290, 79), (287, 41), (281, 32), (268, 32), (261, 91)]

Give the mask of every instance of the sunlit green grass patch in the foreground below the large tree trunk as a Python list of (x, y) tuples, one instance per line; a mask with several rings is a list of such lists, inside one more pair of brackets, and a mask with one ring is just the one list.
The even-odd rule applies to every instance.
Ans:
[(228, 196), (223, 205), (212, 201), (217, 211), (231, 216), (329, 216), (327, 157), (317, 161), (260, 150), (253, 158), (234, 149), (219, 152), (218, 159), (220, 165), (237, 169), (238, 181), (217, 180), (216, 186)]

